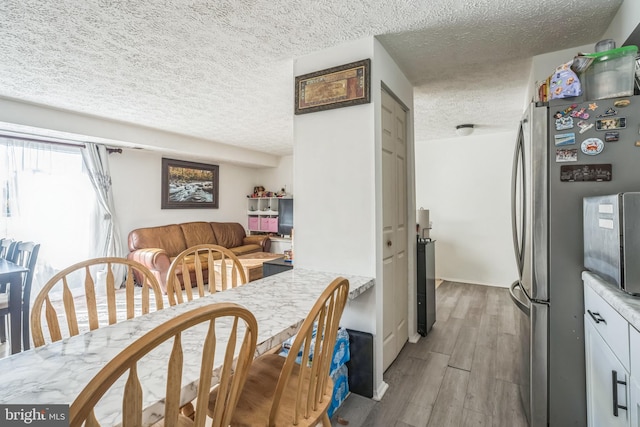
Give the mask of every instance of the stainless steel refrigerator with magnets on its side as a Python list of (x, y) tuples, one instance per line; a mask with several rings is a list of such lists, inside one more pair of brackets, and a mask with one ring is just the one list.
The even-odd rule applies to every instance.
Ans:
[(640, 191), (639, 126), (638, 96), (532, 104), (521, 121), (512, 185), (519, 277), (510, 291), (531, 427), (587, 425), (582, 199)]

